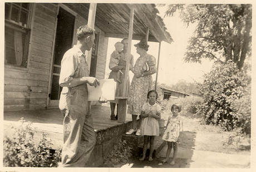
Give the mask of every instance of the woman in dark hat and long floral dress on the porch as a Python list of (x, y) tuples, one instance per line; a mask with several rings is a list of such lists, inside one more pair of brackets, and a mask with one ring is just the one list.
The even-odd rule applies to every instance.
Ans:
[(141, 40), (134, 45), (137, 53), (140, 57), (136, 60), (132, 72), (134, 77), (132, 78), (130, 86), (130, 94), (128, 99), (128, 113), (132, 114), (132, 129), (126, 134), (132, 134), (136, 132), (136, 135), (140, 135), (141, 118), (139, 122), (139, 129), (136, 128), (137, 115), (140, 115), (142, 105), (147, 102), (147, 93), (152, 90), (152, 74), (156, 73), (156, 59), (154, 56), (147, 54), (149, 45)]

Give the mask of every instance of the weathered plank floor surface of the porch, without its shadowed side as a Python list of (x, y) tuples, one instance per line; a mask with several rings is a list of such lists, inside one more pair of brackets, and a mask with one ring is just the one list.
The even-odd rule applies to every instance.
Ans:
[[(93, 124), (95, 131), (106, 130), (117, 125), (117, 120), (110, 120), (110, 107), (104, 105), (93, 105), (91, 107)], [(48, 134), (52, 140), (52, 148), (60, 147), (63, 142), (63, 116), (59, 109), (42, 109), (42, 110), (21, 110), (4, 112), (4, 135), (10, 136), (14, 130), (12, 126), (20, 125), (19, 119), (24, 118), (26, 122), (32, 122), (32, 127), (36, 128), (35, 139), (39, 139), (42, 131)], [(126, 122), (131, 122), (130, 114), (126, 114)]]

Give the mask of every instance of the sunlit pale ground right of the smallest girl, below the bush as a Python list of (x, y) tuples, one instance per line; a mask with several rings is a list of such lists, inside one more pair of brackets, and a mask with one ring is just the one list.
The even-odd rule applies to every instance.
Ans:
[[(166, 120), (165, 125), (168, 117), (168, 112), (161, 114), (161, 118)], [(250, 155), (249, 138), (243, 138), (239, 144), (223, 145), (231, 135), (235, 134), (234, 131), (223, 131), (216, 125), (206, 125), (202, 117), (185, 111), (180, 113), (180, 117), (184, 122), (181, 147), (218, 153)]]

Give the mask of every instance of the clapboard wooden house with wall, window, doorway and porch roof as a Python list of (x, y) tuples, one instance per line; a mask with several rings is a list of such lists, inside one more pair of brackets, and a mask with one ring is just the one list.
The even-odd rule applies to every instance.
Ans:
[[(109, 37), (173, 40), (155, 4), (4, 3), (4, 111), (57, 108), (61, 59), (76, 29), (95, 28), (90, 75), (104, 79)], [(160, 49), (160, 47), (159, 47)], [(125, 98), (125, 96), (124, 96)]]

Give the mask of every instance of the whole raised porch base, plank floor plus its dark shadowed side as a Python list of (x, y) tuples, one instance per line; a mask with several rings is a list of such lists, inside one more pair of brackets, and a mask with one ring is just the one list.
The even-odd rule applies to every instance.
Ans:
[[(140, 154), (143, 136), (125, 135), (132, 126), (132, 118), (130, 114), (126, 115), (125, 123), (118, 123), (117, 120), (110, 120), (110, 107), (107, 105), (93, 105), (91, 107), (93, 124), (96, 133), (96, 146), (92, 152), (88, 166), (97, 167), (103, 164), (103, 159), (112, 150), (113, 145), (119, 139), (125, 139), (130, 146), (134, 148), (134, 152)], [(4, 136), (13, 135), (12, 127), (20, 125), (19, 119), (23, 118), (26, 123), (32, 122), (32, 127), (36, 128), (35, 140), (39, 140), (41, 133), (47, 133), (51, 139), (52, 149), (60, 149), (63, 144), (63, 116), (59, 109), (43, 109), (43, 110), (20, 110), (13, 112), (4, 112), (3, 115)], [(164, 146), (163, 140), (157, 138), (155, 141), (155, 153)]]

